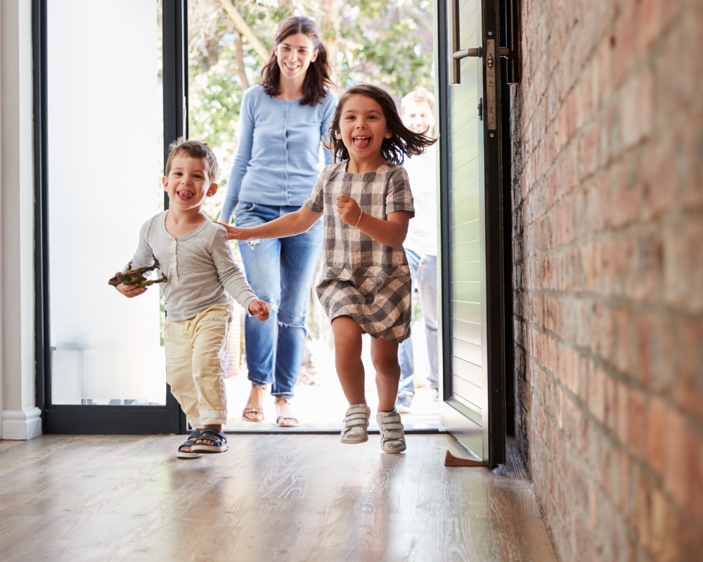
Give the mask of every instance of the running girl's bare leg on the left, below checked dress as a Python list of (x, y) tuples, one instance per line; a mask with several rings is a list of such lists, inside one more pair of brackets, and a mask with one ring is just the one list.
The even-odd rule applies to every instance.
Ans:
[[(347, 397), (349, 404), (366, 404), (366, 396), (363, 393), (361, 327), (349, 316), (337, 316), (332, 321), (332, 331), (335, 334), (337, 376), (340, 377), (344, 396)], [(400, 376), (400, 368), (398, 373)], [(396, 391), (397, 386), (398, 381), (396, 381)]]

